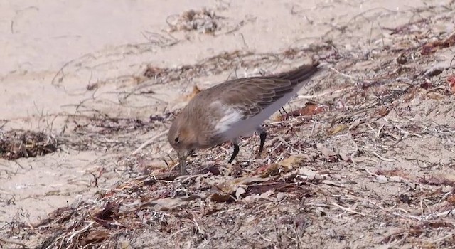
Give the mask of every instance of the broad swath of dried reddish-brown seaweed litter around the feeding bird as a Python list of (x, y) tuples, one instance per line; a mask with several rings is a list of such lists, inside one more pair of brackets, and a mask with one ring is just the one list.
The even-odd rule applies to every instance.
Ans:
[[(147, 161), (154, 152), (125, 156), (116, 166), (128, 169), (126, 179), (22, 227), (43, 237), (38, 248), (453, 247), (455, 129), (450, 119), (434, 122), (454, 115), (453, 72), (424, 73), (452, 46), (432, 43), (451, 37), (432, 33), (432, 23), (446, 20), (392, 28), (393, 46), (368, 53), (327, 42), (270, 54), (232, 51), (179, 68), (149, 65), (144, 77), (169, 83), (239, 65), (264, 73), (264, 63), (301, 63), (315, 48), (333, 63), (309, 95), (291, 103), (296, 109), (265, 125), (267, 152), (255, 154), (257, 137), (245, 138), (247, 153), (230, 166), (230, 144), (222, 144), (196, 154), (189, 176), (177, 176), (165, 152), (154, 163)], [(320, 105), (301, 107), (301, 99)], [(81, 139), (74, 141), (102, 146), (106, 137), (125, 136), (116, 146), (131, 150), (140, 142), (134, 132), (172, 117), (90, 117), (77, 122)], [(411, 146), (422, 139), (444, 152)]]

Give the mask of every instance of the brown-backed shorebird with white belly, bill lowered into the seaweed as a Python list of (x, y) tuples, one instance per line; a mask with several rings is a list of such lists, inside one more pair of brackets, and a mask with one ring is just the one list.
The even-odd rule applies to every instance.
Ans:
[(301, 65), (288, 72), (264, 77), (228, 80), (199, 92), (173, 121), (168, 141), (186, 174), (186, 157), (193, 149), (208, 149), (232, 142), (239, 152), (238, 138), (259, 134), (259, 153), (264, 149), (266, 132), (262, 122), (296, 95), (312, 76), (321, 72), (318, 62)]

